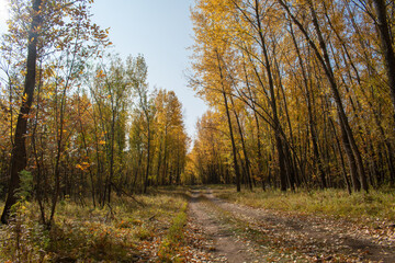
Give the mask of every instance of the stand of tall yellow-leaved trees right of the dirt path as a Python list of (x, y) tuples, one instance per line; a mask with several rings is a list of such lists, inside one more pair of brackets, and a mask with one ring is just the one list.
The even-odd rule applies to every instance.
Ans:
[[(283, 191), (316, 185), (350, 188), (350, 176), (353, 191), (368, 192), (370, 185), (393, 181), (390, 149), (395, 138), (385, 82), (390, 77), (376, 59), (379, 26), (371, 5), (196, 2), (190, 85), (211, 110), (224, 116), (226, 108), (233, 113), (218, 122), (238, 127), (234, 139), (226, 140), (235, 141), (244, 182), (249, 162), (260, 180)], [(393, 18), (385, 18), (391, 35)], [(203, 171), (207, 165), (203, 161), (195, 167)], [(255, 183), (257, 176), (251, 179)]]

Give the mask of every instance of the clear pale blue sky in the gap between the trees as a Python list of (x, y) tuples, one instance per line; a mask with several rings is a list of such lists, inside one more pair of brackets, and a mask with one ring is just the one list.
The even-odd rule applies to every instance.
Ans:
[[(0, 32), (7, 10), (0, 0)], [(193, 31), (190, 7), (193, 0), (95, 0), (92, 21), (110, 27), (110, 41), (121, 57), (143, 54), (151, 88), (173, 90), (184, 108), (185, 127), (193, 137), (198, 118), (207, 106), (188, 88)]]

